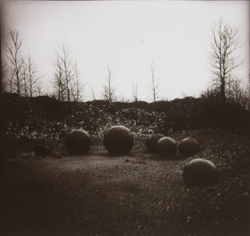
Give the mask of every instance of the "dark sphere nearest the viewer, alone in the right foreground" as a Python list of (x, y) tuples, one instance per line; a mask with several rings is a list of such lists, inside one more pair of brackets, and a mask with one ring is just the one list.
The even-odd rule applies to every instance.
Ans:
[(183, 169), (183, 181), (188, 187), (204, 188), (218, 182), (219, 175), (215, 165), (206, 159), (190, 161)]

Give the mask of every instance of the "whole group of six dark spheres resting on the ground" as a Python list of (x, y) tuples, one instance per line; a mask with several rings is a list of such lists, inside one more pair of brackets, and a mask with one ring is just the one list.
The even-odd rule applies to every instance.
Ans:
[[(132, 132), (122, 125), (113, 126), (104, 133), (103, 144), (113, 156), (127, 155), (133, 148)], [(91, 147), (91, 137), (85, 130), (72, 131), (65, 140), (67, 150), (72, 155), (86, 154)], [(174, 159), (177, 151), (182, 157), (190, 157), (199, 152), (195, 138), (185, 138), (179, 144), (163, 134), (152, 134), (146, 139), (146, 148), (165, 159)], [(218, 182), (216, 166), (209, 160), (196, 158), (183, 168), (183, 181), (188, 187), (208, 187)]]

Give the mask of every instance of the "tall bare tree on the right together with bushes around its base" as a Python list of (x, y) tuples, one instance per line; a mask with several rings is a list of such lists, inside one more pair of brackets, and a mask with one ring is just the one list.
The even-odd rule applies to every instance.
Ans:
[[(250, 87), (242, 84), (235, 74), (244, 62), (235, 53), (240, 48), (239, 28), (224, 23), (222, 19), (211, 28), (211, 52), (208, 59), (213, 73), (212, 85), (202, 96), (212, 97), (220, 102), (249, 106)], [(249, 74), (250, 84), (250, 74)]]

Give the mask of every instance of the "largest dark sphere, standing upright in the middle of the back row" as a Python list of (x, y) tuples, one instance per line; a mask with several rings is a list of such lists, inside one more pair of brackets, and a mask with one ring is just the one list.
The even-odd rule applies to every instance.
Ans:
[(128, 128), (117, 125), (104, 133), (103, 143), (111, 155), (127, 155), (133, 147), (134, 137)]

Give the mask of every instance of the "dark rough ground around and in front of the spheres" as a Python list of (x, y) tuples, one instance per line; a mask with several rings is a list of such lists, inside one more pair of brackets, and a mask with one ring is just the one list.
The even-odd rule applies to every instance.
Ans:
[[(85, 156), (6, 159), (2, 235), (250, 235), (250, 140), (220, 130), (169, 135), (193, 136), (201, 151), (164, 160), (137, 139), (129, 156), (111, 157), (94, 139)], [(218, 184), (184, 185), (183, 167), (196, 157), (214, 162)]]

